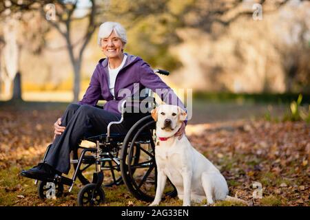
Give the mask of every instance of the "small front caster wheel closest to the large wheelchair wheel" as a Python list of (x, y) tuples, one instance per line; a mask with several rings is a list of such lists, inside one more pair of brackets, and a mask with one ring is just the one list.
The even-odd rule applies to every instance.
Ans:
[(96, 184), (87, 184), (79, 191), (78, 206), (99, 206), (101, 203), (105, 203), (105, 192), (101, 187), (96, 190)]

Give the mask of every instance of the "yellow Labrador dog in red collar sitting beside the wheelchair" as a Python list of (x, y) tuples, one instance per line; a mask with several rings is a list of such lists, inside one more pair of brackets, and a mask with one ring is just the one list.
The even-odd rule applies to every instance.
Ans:
[(227, 196), (228, 187), (223, 175), (193, 148), (185, 135), (180, 140), (174, 136), (186, 116), (183, 109), (169, 104), (161, 104), (152, 110), (158, 139), (155, 148), (158, 174), (155, 199), (149, 206), (161, 202), (167, 177), (176, 186), (178, 198), (183, 199), (183, 206), (190, 206), (191, 201), (201, 202), (203, 199), (207, 199), (208, 204), (215, 200), (243, 201)]

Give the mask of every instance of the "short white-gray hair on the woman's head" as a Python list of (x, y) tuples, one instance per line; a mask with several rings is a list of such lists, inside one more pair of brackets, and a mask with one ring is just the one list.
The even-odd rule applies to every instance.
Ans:
[(104, 39), (113, 32), (123, 41), (123, 43), (127, 43), (126, 30), (123, 26), (118, 22), (106, 21), (102, 23), (99, 27), (98, 32), (98, 45), (101, 46), (101, 39)]

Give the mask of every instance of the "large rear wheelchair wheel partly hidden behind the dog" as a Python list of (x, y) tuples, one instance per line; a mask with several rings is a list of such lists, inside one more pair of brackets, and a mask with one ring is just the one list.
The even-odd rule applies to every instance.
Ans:
[[(154, 132), (156, 122), (149, 115), (128, 131), (121, 152), (121, 173), (127, 189), (143, 201), (153, 201), (156, 192), (157, 168), (155, 162)], [(139, 151), (138, 161), (132, 158)], [(167, 181), (164, 197), (175, 197), (176, 188)]]

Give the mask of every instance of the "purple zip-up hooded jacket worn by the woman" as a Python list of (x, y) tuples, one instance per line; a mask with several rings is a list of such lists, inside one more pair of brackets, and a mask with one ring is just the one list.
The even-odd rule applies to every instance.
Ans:
[(116, 76), (114, 85), (115, 98), (109, 89), (108, 58), (103, 58), (96, 65), (90, 80), (90, 86), (87, 88), (83, 99), (78, 102), (79, 104), (95, 106), (99, 100), (106, 100), (107, 102), (103, 109), (120, 115), (118, 102), (123, 100), (127, 94), (118, 96), (118, 92), (126, 88), (130, 89), (132, 91), (131, 95), (133, 95), (136, 90), (134, 85), (138, 85), (140, 90), (145, 87), (152, 89), (154, 92), (156, 92), (156, 89), (161, 89), (161, 94), (157, 93), (161, 100), (167, 104), (176, 104), (186, 111), (183, 102), (174, 94), (174, 91), (157, 74), (154, 74), (151, 67), (142, 58), (130, 54), (126, 55), (125, 65)]

